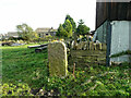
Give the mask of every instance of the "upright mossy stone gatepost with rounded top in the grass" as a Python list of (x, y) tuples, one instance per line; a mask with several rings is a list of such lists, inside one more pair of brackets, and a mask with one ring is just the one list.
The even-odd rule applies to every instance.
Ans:
[(48, 44), (48, 61), (50, 76), (67, 76), (68, 58), (64, 42), (56, 41)]

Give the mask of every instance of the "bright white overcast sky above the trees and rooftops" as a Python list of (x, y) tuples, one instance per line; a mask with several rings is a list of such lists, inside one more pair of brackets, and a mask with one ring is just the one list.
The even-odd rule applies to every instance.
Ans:
[(82, 19), (94, 30), (96, 0), (0, 0), (0, 34), (15, 32), (16, 25), (22, 23), (34, 30), (38, 27), (58, 28), (67, 14), (76, 25)]

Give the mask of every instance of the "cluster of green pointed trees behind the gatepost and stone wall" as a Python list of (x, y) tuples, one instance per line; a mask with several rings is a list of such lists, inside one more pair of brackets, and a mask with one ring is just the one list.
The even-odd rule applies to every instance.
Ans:
[[(87, 27), (83, 20), (80, 20), (79, 26), (76, 28), (76, 24), (70, 15), (66, 16), (66, 21), (63, 24), (60, 24), (58, 27), (58, 32), (56, 36), (58, 37), (76, 37), (79, 35), (86, 35), (90, 32), (90, 27)], [(74, 38), (75, 39), (75, 38)]]

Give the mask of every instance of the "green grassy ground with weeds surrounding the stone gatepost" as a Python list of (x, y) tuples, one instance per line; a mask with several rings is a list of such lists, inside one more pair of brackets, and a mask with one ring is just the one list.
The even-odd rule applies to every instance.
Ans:
[[(48, 76), (47, 50), (35, 52), (27, 46), (2, 48), (3, 96), (131, 96), (131, 65), (122, 63), (81, 66), (66, 78)], [(92, 60), (91, 60), (92, 61)], [(69, 65), (70, 68), (70, 65)], [(43, 89), (43, 93), (39, 93)]]

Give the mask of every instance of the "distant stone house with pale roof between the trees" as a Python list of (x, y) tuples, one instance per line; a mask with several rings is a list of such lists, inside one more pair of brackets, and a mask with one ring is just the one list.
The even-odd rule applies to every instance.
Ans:
[(41, 28), (37, 28), (35, 30), (39, 37), (44, 38), (46, 36), (56, 36), (57, 29), (51, 28), (47, 28), (47, 27), (41, 27)]

